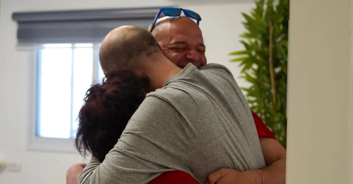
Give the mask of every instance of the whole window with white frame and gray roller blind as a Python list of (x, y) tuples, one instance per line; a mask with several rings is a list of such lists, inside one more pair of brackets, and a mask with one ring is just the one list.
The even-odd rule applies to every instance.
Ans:
[(100, 42), (122, 25), (147, 28), (161, 7), (15, 12), (18, 49), (34, 53), (28, 148), (76, 152), (73, 138), (83, 98), (104, 77)]

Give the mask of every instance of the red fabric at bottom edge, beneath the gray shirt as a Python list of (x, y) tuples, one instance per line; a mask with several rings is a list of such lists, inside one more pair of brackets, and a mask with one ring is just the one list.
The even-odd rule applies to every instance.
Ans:
[(148, 184), (198, 184), (188, 173), (183, 171), (163, 172)]

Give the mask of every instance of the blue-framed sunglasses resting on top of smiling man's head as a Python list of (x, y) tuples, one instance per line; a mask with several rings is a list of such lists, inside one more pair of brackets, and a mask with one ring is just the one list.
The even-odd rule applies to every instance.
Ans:
[(184, 12), (185, 17), (189, 17), (192, 19), (195, 19), (197, 21), (197, 25), (199, 25), (199, 22), (201, 21), (201, 17), (199, 14), (197, 14), (196, 12), (190, 10), (190, 9), (183, 9), (183, 8), (175, 8), (175, 7), (165, 7), (165, 8), (161, 8), (159, 9), (153, 24), (150, 28), (150, 32), (153, 31), (156, 22), (158, 20), (158, 18), (160, 17), (161, 13), (163, 12), (164, 15), (168, 16), (168, 17), (179, 17), (181, 14), (181, 11)]

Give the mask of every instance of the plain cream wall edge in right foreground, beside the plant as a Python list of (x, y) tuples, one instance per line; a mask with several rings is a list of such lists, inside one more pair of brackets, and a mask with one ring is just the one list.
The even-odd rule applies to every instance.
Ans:
[(351, 0), (292, 0), (287, 184), (352, 182)]

